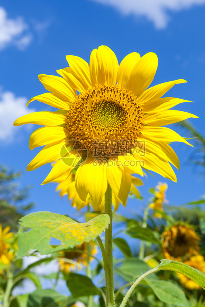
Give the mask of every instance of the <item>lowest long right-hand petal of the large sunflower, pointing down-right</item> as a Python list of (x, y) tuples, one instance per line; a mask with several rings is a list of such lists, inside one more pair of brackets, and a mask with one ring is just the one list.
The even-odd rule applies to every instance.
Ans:
[(165, 178), (171, 179), (174, 182), (177, 181), (176, 175), (170, 164), (167, 161), (163, 161), (155, 153), (152, 153), (149, 150), (146, 150), (145, 156), (140, 156), (134, 150), (132, 151), (132, 153), (136, 159), (144, 162), (145, 169), (154, 171)]

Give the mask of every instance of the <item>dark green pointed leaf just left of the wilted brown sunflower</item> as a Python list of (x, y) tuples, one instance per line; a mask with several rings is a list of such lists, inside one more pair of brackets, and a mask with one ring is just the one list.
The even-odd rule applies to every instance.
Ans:
[(140, 225), (131, 228), (130, 230), (126, 231), (126, 233), (132, 238), (138, 238), (154, 244), (161, 244), (161, 241), (157, 238), (158, 233), (151, 229), (143, 228)]

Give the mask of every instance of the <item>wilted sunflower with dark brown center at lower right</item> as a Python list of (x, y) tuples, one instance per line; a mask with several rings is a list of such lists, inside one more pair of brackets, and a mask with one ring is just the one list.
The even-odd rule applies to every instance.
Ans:
[(162, 234), (162, 252), (165, 259), (181, 261), (183, 256), (191, 256), (199, 251), (198, 241), (194, 229), (188, 225), (175, 225)]

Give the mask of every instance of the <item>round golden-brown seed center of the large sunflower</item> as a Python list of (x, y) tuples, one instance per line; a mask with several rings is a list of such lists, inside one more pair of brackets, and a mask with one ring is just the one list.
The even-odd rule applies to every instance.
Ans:
[(136, 147), (143, 115), (131, 92), (118, 85), (97, 85), (71, 104), (66, 114), (68, 136), (83, 142), (93, 157), (125, 155)]

